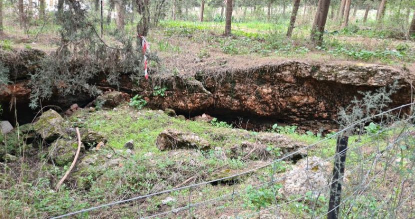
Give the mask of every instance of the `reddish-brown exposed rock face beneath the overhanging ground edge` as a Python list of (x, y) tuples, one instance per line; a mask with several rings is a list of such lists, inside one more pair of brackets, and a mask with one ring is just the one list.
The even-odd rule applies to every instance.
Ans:
[[(33, 55), (22, 54), (31, 61), (21, 63), (18, 68), (13, 67), (12, 61), (4, 60), (13, 69), (10, 78), (17, 80), (0, 91), (0, 104), (6, 105), (16, 97), (16, 106), (20, 111), (27, 108), (29, 73), (34, 72), (36, 63), (42, 57), (41, 52), (36, 52)], [(373, 91), (398, 81), (401, 88), (392, 96), (391, 106), (411, 101), (411, 86), (406, 80), (408, 71), (376, 64), (285, 61), (246, 68), (207, 67), (195, 72), (193, 77), (154, 73), (150, 81), (140, 81), (139, 84), (131, 81), (128, 74), (121, 74), (119, 87), (109, 84), (105, 74), (99, 73), (91, 82), (103, 90), (116, 88), (129, 94), (140, 93), (149, 100), (150, 107), (171, 108), (178, 114), (195, 116), (207, 113), (214, 117), (221, 116), (221, 120), (245, 117), (251, 123), (254, 119), (274, 123), (282, 120), (316, 127), (331, 123), (333, 126), (330, 129), (336, 127), (332, 121), (336, 119), (339, 108), (350, 104), (354, 96), (360, 96), (359, 91)], [(164, 96), (153, 95), (153, 85), (159, 83), (167, 88)], [(104, 102), (104, 107), (115, 107), (128, 99), (122, 92), (105, 93), (98, 100)], [(44, 104), (69, 107), (73, 102), (82, 105), (90, 99), (85, 93), (64, 98), (55, 93)], [(13, 115), (5, 112), (4, 116)]]

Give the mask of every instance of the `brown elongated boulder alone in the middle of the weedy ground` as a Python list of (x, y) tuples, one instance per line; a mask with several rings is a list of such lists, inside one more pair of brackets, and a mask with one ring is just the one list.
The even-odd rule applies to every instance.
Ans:
[(182, 132), (174, 129), (162, 131), (156, 139), (156, 145), (160, 150), (168, 149), (201, 149), (211, 148), (209, 142), (195, 133)]

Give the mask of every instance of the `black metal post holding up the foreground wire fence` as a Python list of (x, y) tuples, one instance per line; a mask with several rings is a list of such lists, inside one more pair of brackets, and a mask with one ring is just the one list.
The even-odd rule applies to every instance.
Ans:
[(343, 175), (345, 173), (348, 136), (339, 136), (336, 144), (336, 156), (333, 167), (333, 179), (330, 189), (329, 211), (327, 219), (338, 219), (339, 205), (342, 196)]

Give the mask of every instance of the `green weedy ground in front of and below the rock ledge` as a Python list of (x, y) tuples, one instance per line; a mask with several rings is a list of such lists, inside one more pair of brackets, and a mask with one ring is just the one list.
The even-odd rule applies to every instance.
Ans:
[[(74, 127), (101, 132), (108, 142), (99, 150), (85, 152), (59, 191), (54, 191), (54, 186), (68, 166), (53, 165), (45, 153), (39, 151), (47, 148), (36, 149), (27, 145), (26, 148), (30, 148), (30, 151), (26, 152), (24, 162), (7, 163), (7, 167), (1, 165), (0, 204), (4, 207), (1, 208), (0, 215), (3, 218), (56, 216), (115, 200), (221, 178), (267, 163), (261, 160), (244, 160), (241, 157), (227, 158), (233, 145), (243, 141), (255, 142), (257, 132), (183, 120), (157, 110), (136, 110), (128, 106), (94, 112), (84, 109), (66, 120)], [(213, 149), (160, 151), (155, 140), (167, 128), (194, 132), (208, 140)], [(391, 130), (385, 136), (393, 136), (397, 131)], [(312, 134), (286, 135), (307, 144), (322, 139)], [(365, 140), (357, 140), (359, 137)], [(131, 139), (134, 140), (135, 148), (132, 153), (128, 153), (124, 143)], [(362, 164), (362, 157), (374, 156), (377, 148), (385, 148), (388, 142), (374, 140), (369, 134), (350, 138), (350, 142), (356, 141), (361, 143), (351, 143), (348, 169), (353, 169), (360, 162)], [(308, 155), (330, 158), (335, 153), (335, 143), (335, 139), (318, 143), (307, 151)], [(364, 143), (367, 144), (363, 145)], [(366, 164), (370, 166), (369, 163)], [(289, 160), (277, 162), (275, 172), (284, 173), (291, 165)], [(186, 206), (189, 195), (192, 203), (196, 203), (226, 194), (228, 196), (225, 198), (192, 208), (191, 213), (198, 218), (217, 218), (221, 215), (234, 216), (236, 210), (241, 216), (275, 205), (274, 191), (277, 191), (277, 201), (281, 204), (279, 211), (284, 218), (310, 217), (327, 210), (327, 197), (319, 198), (316, 205), (310, 195), (286, 203), (288, 200), (278, 194), (278, 189), (282, 186), (280, 182), (275, 183), (274, 187), (265, 184), (255, 189), (256, 186), (269, 182), (272, 172), (273, 166), (268, 166), (236, 179), (199, 186), (191, 193), (189, 189), (182, 189), (84, 213), (83, 218), (133, 218), (137, 217), (138, 211), (141, 216), (151, 215), (168, 211), (172, 207)], [(348, 176), (348, 180), (353, 181), (353, 177)], [(232, 201), (229, 194), (234, 190), (243, 191), (237, 192)], [(366, 198), (358, 200), (357, 211), (382, 204), (375, 196), (368, 194)], [(176, 201), (162, 204), (161, 200), (166, 197), (172, 197)], [(290, 200), (294, 198), (291, 197)], [(188, 213), (185, 210), (160, 218), (184, 218)]]

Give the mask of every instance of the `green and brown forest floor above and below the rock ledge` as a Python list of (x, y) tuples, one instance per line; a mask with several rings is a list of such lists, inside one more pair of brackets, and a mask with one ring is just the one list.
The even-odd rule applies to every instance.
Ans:
[[(134, 30), (132, 26), (126, 28)], [(325, 44), (317, 47), (309, 42), (309, 30), (301, 26), (291, 39), (285, 38), (283, 30), (278, 26), (270, 24), (236, 24), (232, 37), (222, 36), (222, 31), (223, 23), (160, 23), (160, 27), (152, 29), (147, 38), (151, 44), (150, 51), (157, 52), (161, 58), (160, 63), (150, 61), (150, 69), (155, 68), (162, 73), (194, 75), (199, 69), (244, 68), (295, 59), (318, 63), (374, 63), (407, 68), (411, 73), (415, 73), (415, 41), (382, 37), (382, 33), (376, 31), (372, 31), (373, 35), (368, 36), (364, 30), (352, 27), (338, 32), (333, 28), (325, 35)], [(33, 41), (20, 33), (8, 33), (0, 41), (0, 45), (2, 49), (37, 48), (53, 52), (56, 48), (54, 41), (58, 40), (57, 34), (40, 34), (39, 38)], [(110, 41), (110, 38), (104, 37), (104, 40)], [(70, 142), (69, 146), (66, 145), (66, 148), (71, 149), (69, 153), (76, 147), (74, 127), (80, 127), (87, 133), (99, 133), (100, 137), (84, 144), (85, 148), (75, 169), (63, 187), (59, 191), (54, 191), (57, 181), (70, 164), (68, 160), (59, 163), (58, 159), (53, 157), (56, 151), (59, 152), (58, 139), (53, 141), (54, 143), (49, 142), (50, 145), (54, 145), (49, 148), (26, 145), (20, 134), (33, 132), (30, 124), (21, 127), (21, 131), (15, 129), (6, 135), (1, 142), (5, 148), (12, 145), (17, 158), (11, 156), (0, 165), (0, 205), (4, 206), (0, 209), (0, 217), (48, 218), (137, 195), (231, 176), (267, 165), (275, 158), (287, 154), (286, 150), (292, 151), (307, 145), (313, 146), (306, 154), (301, 154), (302, 156), (318, 156), (320, 160), (328, 160), (322, 161), (319, 168), (313, 168), (310, 172), (318, 170), (327, 176), (333, 169), (331, 163), (336, 153), (336, 138), (330, 137), (330, 134), (327, 135), (329, 139), (322, 141), (325, 136), (321, 133), (298, 133), (295, 127), (290, 125), (261, 132), (244, 130), (232, 128), (230, 124), (217, 120), (189, 120), (184, 116), (172, 114), (169, 110), (137, 109), (128, 105), (128, 102), (116, 107), (104, 108), (95, 104), (93, 108), (79, 109), (72, 115), (65, 116), (61, 123), (72, 132), (69, 136), (62, 136), (62, 139)], [(396, 154), (399, 154), (396, 151), (392, 156), (392, 162), (389, 160), (391, 157), (383, 156), (379, 163), (373, 164), (370, 160), (379, 157), (379, 151), (385, 150), (388, 143), (397, 138), (403, 127), (399, 124), (397, 127), (388, 128), (382, 135), (377, 132), (377, 128), (368, 126), (368, 129), (365, 129), (367, 131), (350, 136), (351, 145), (347, 160), (347, 170), (350, 172), (345, 177), (345, 194), (350, 197), (354, 196), (356, 191), (362, 192), (344, 203), (351, 208), (350, 212), (345, 212), (345, 216), (351, 218), (362, 215), (388, 217), (388, 212), (383, 210), (389, 203), (389, 199), (385, 197), (396, 194), (393, 197), (399, 198), (400, 193), (397, 190), (400, 189), (404, 191), (404, 196), (410, 193), (405, 194), (408, 187), (391, 186), (394, 185), (394, 181), (401, 179), (400, 174), (414, 162), (413, 156), (405, 153), (407, 150), (402, 145), (398, 148), (402, 155), (398, 157), (398, 161), (395, 160), (398, 159)], [(198, 138), (206, 140), (210, 149), (160, 150), (155, 142), (164, 130), (194, 133)], [(407, 130), (408, 128), (405, 129)], [(413, 130), (413, 127), (409, 129)], [(261, 138), (265, 139), (264, 136), (269, 135), (272, 136), (271, 140)], [(97, 148), (101, 140), (104, 144)], [(134, 141), (132, 149), (124, 147), (129, 140)], [(410, 135), (407, 140), (405, 143), (414, 145), (414, 136)], [(317, 144), (314, 144), (316, 142)], [(255, 145), (252, 150), (241, 153), (235, 151), (235, 146), (239, 148), (249, 143)], [(259, 150), (258, 145), (262, 146)], [(287, 149), (287, 146), (293, 148)], [(308, 158), (303, 160), (306, 159), (308, 162)], [(404, 159), (412, 160), (404, 163)], [(195, 190), (185, 188), (167, 192), (78, 214), (73, 218), (134, 218), (138, 217), (137, 214), (150, 216), (170, 210), (173, 211), (171, 214), (159, 217), (185, 218), (192, 214), (195, 218), (228, 218), (235, 215), (272, 218), (274, 209), (268, 208), (274, 205), (278, 206), (277, 209), (283, 218), (324, 215), (328, 206), (327, 190), (317, 198), (310, 192), (297, 195), (282, 192), (286, 186), (284, 174), (295, 169), (298, 161), (298, 157), (289, 157), (279, 160), (273, 166), (265, 166), (238, 178), (203, 184)], [(386, 171), (384, 163), (390, 164), (391, 168)], [(375, 171), (370, 171), (371, 168)], [(352, 171), (356, 169), (359, 171), (355, 174)], [(373, 184), (376, 184), (370, 186), (371, 192), (357, 188), (366, 182), (362, 177), (367, 171), (369, 173), (366, 176), (373, 177)], [(386, 172), (388, 180), (377, 177), (379, 173)], [(299, 175), (293, 175), (301, 178)], [(275, 177), (280, 179), (271, 185), (267, 184)], [(324, 179), (329, 180), (327, 177)], [(409, 184), (413, 181), (402, 183)], [(234, 195), (234, 191), (240, 192)], [(223, 197), (224, 195), (226, 196)], [(187, 206), (189, 199), (191, 203), (207, 200), (210, 202), (194, 206), (190, 210), (174, 210)], [(409, 201), (400, 207), (397, 214), (402, 218), (415, 217), (415, 212), (411, 208), (413, 204), (414, 197), (410, 195)], [(263, 215), (249, 215), (261, 210)]]

